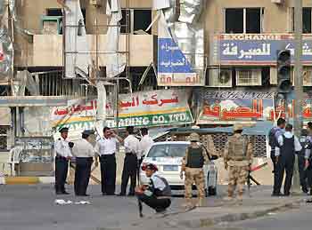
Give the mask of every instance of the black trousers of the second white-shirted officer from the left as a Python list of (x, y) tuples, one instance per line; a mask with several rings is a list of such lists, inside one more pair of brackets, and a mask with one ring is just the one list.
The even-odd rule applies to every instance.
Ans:
[(75, 194), (86, 194), (86, 188), (89, 185), (91, 175), (91, 166), (93, 163), (92, 157), (77, 157), (76, 158), (76, 171), (75, 171)]

